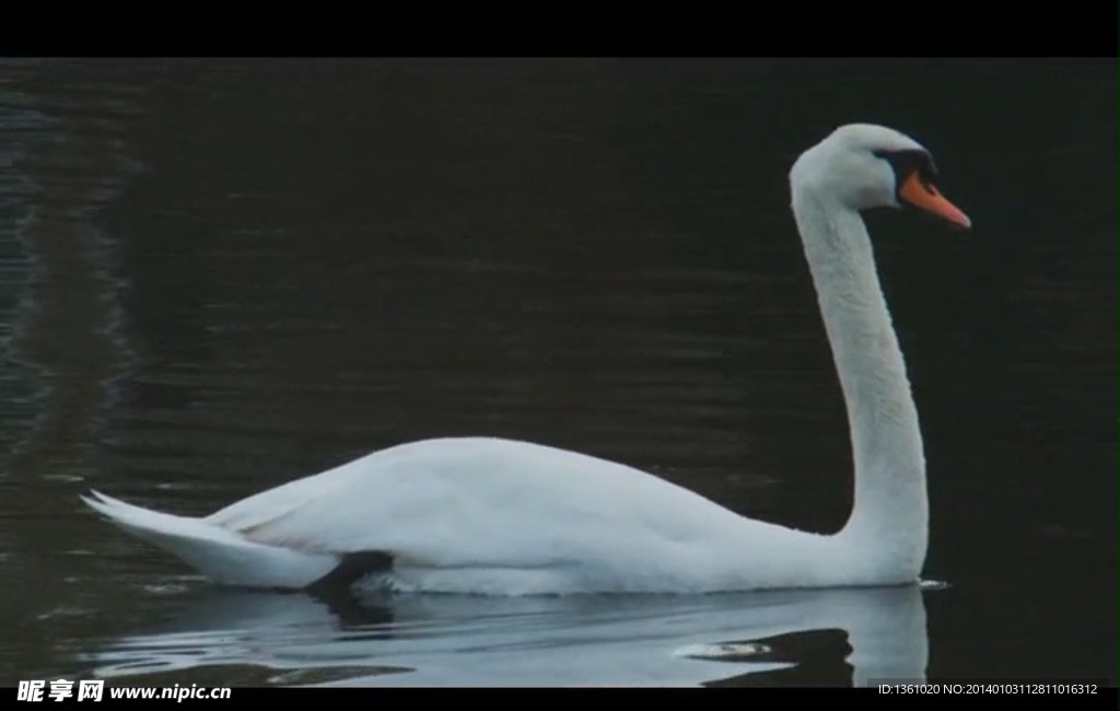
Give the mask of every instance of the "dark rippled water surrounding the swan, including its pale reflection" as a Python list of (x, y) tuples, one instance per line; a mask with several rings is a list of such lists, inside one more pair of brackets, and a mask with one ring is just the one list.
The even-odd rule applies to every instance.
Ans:
[[(853, 120), (976, 225), (868, 218), (948, 588), (339, 607), (78, 503), (486, 433), (836, 531), (786, 172)], [(0, 131), (0, 685), (1116, 683), (1114, 60), (6, 60)]]

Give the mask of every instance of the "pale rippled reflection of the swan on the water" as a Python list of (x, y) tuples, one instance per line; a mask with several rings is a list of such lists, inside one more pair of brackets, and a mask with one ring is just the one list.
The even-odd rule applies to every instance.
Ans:
[(337, 599), (208, 588), (170, 625), (87, 661), (97, 677), (144, 684), (676, 686), (924, 680), (927, 656), (917, 586)]

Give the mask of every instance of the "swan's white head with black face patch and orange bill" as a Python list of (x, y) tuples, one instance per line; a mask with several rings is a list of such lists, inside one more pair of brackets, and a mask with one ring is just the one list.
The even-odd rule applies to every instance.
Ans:
[(971, 221), (936, 188), (933, 158), (921, 143), (870, 123), (842, 125), (793, 163), (794, 195), (813, 194), (851, 209), (914, 207), (960, 227)]

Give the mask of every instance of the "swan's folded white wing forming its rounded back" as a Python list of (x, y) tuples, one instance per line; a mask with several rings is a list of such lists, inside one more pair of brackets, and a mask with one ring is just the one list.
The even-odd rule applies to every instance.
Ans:
[[(224, 508), (207, 523), (268, 545), (383, 552), (399, 564), (540, 568), (662, 560), (744, 520), (623, 465), (510, 440), (428, 440), (375, 452)], [(767, 526), (767, 524), (758, 524)], [(775, 526), (776, 528), (776, 526)], [(726, 537), (726, 536), (724, 536)]]

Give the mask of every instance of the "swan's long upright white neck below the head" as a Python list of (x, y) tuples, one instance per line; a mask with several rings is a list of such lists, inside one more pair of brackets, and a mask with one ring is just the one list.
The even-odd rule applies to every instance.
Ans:
[[(859, 213), (808, 190), (793, 209), (843, 389), (856, 465), (851, 517), (839, 540), (878, 574), (913, 580), (925, 559), (925, 457), (906, 366)], [(890, 582), (890, 580), (884, 580)]]

